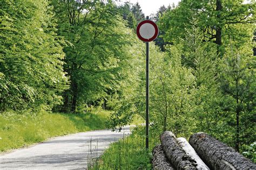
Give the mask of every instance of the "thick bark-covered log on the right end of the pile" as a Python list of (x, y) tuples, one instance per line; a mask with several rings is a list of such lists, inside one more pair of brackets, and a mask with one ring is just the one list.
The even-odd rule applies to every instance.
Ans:
[(256, 169), (251, 160), (204, 132), (193, 134), (189, 143), (212, 169)]

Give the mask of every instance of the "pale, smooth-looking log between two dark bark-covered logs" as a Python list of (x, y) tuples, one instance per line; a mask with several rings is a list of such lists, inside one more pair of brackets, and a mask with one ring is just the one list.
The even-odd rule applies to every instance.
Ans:
[(178, 138), (177, 141), (178, 141), (178, 144), (180, 145), (180, 147), (183, 148), (183, 150), (186, 152), (188, 157), (190, 157), (191, 159), (196, 161), (197, 169), (202, 169), (202, 170), (210, 169), (207, 167), (207, 165), (205, 165), (203, 160), (201, 160), (201, 158), (198, 156), (197, 152), (194, 151), (194, 148), (188, 143), (188, 141), (185, 138)]

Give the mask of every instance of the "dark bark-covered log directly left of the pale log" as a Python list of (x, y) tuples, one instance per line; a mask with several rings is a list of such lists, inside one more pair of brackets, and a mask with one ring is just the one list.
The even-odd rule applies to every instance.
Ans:
[(161, 145), (166, 157), (177, 169), (197, 169), (194, 161), (186, 155), (186, 152), (178, 145), (172, 132), (164, 132), (160, 136)]

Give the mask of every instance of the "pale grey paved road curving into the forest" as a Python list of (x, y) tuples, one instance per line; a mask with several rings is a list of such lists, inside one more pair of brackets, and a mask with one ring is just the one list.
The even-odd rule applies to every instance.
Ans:
[(125, 127), (122, 132), (98, 130), (52, 138), (0, 155), (0, 169), (86, 169), (90, 158), (98, 157), (110, 143), (129, 133), (130, 128)]

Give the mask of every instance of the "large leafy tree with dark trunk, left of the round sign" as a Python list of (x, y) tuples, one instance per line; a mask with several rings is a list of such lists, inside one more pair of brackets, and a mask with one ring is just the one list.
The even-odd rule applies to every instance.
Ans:
[[(113, 95), (131, 56), (131, 30), (112, 3), (53, 1), (58, 34), (72, 45), (64, 48), (64, 69), (71, 89), (64, 93), (63, 111), (75, 112), (78, 105), (96, 104)], [(86, 12), (84, 12), (86, 11)]]

